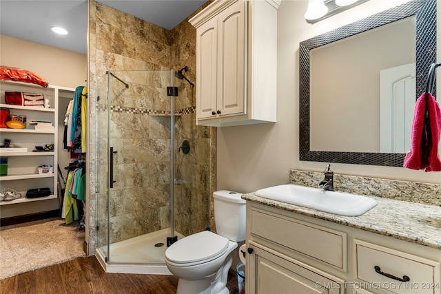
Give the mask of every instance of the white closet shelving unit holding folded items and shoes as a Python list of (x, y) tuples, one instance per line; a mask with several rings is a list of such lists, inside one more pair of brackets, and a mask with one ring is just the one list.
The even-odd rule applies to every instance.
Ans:
[[(21, 198), (19, 199), (1, 201), (0, 206), (4, 209), (6, 209), (6, 205), (9, 206), (10, 204), (37, 202), (58, 198), (58, 101), (61, 97), (73, 97), (74, 91), (74, 89), (69, 87), (49, 85), (44, 88), (30, 83), (0, 81), (0, 107), (9, 109), (10, 114), (25, 115), (27, 120), (25, 129), (0, 129), (1, 145), (3, 145), (4, 139), (8, 138), (11, 140), (12, 145), (18, 145), (19, 147), (28, 149), (28, 151), (25, 152), (16, 152), (5, 151), (5, 149), (0, 148), (0, 156), (8, 157), (8, 175), (0, 176), (0, 187), (1, 189), (11, 188), (21, 193)], [(50, 108), (6, 104), (5, 92), (30, 92), (43, 94), (45, 98), (49, 99)], [(34, 125), (30, 125), (32, 120), (51, 121), (54, 129), (34, 129)], [(35, 146), (44, 147), (46, 144), (53, 144), (54, 150), (33, 151)], [(54, 167), (54, 172), (51, 174), (39, 174), (38, 167), (41, 165), (52, 165)], [(25, 197), (28, 189), (43, 187), (50, 188), (50, 196), (39, 198)], [(41, 206), (39, 206), (38, 209), (41, 210)], [(52, 208), (48, 207), (47, 210), (52, 210)], [(35, 211), (30, 209), (30, 212), (34, 213)], [(11, 213), (7, 214), (10, 215)], [(17, 213), (12, 211), (12, 214), (23, 214), (23, 209), (17, 209)]]

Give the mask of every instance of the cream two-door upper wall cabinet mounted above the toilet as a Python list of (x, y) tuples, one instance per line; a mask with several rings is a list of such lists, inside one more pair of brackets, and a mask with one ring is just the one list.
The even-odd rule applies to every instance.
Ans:
[(218, 0), (196, 28), (196, 125), (276, 122), (280, 1)]

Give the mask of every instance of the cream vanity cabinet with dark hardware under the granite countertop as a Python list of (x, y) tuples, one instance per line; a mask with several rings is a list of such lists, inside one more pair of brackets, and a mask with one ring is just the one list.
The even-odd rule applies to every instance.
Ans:
[(268, 205), (247, 201), (246, 244), (247, 293), (440, 294), (441, 251)]

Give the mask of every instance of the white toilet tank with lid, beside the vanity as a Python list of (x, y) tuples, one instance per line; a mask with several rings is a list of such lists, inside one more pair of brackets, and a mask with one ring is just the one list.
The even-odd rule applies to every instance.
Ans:
[(227, 190), (213, 193), (216, 234), (234, 242), (245, 240), (246, 201), (241, 196)]

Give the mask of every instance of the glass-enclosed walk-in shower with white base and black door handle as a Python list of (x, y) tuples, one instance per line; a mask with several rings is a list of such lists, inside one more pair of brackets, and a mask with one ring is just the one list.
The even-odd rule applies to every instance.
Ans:
[[(208, 140), (182, 70), (98, 82), (96, 256), (108, 272), (170, 273), (167, 245), (209, 227)], [(185, 83), (184, 79), (188, 82)], [(181, 143), (196, 146), (187, 153)]]

